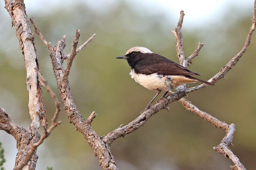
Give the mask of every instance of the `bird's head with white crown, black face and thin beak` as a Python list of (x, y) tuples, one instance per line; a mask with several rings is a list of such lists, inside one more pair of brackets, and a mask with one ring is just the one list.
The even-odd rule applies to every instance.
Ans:
[(118, 56), (116, 58), (126, 59), (128, 64), (133, 67), (138, 61), (146, 57), (146, 54), (153, 53), (146, 47), (132, 47), (125, 55)]

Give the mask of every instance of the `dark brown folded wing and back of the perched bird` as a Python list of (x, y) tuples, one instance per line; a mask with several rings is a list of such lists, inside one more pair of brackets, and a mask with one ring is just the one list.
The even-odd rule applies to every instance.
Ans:
[(144, 74), (200, 75), (156, 53), (147, 54), (147, 57), (143, 57), (134, 65), (134, 70)]

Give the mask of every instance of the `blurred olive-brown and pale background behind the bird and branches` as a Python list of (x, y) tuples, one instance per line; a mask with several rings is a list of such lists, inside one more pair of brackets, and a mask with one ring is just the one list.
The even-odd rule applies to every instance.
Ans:
[[(25, 0), (24, 3), (28, 17), (34, 17), (48, 42), (56, 45), (66, 34), (66, 54), (70, 53), (76, 29), (81, 30), (78, 45), (93, 33), (97, 34), (95, 40), (76, 55), (69, 82), (84, 118), (92, 111), (98, 114), (92, 127), (100, 136), (131, 122), (155, 95), (135, 83), (129, 76), (126, 61), (116, 60), (116, 56), (124, 55), (131, 47), (143, 46), (178, 62), (171, 30), (177, 26), (183, 9), (185, 55), (196, 49), (198, 41), (204, 43), (189, 69), (208, 80), (243, 47), (253, 12), (252, 0)], [(0, 106), (18, 125), (27, 128), (30, 118), (24, 59), (4, 1), (0, 1), (0, 7)], [(244, 56), (226, 74), (227, 80), (221, 79), (216, 86), (186, 97), (221, 121), (236, 124), (234, 146), (230, 148), (247, 169), (256, 169), (255, 34)], [(37, 35), (35, 43), (44, 78), (59, 94), (48, 49)], [(44, 102), (51, 120), (55, 107), (45, 89)], [(179, 102), (169, 107), (170, 112), (161, 110), (140, 129), (114, 141), (111, 152), (120, 170), (228, 170), (233, 165), (212, 149), (225, 136), (223, 129), (204, 122)], [(59, 120), (62, 124), (38, 148), (36, 169), (45, 170), (49, 166), (54, 170), (100, 170), (92, 149), (79, 132), (74, 132), (63, 109)], [(7, 159), (4, 165), (7, 170), (12, 169), (16, 141), (4, 131), (0, 131), (0, 140)]]

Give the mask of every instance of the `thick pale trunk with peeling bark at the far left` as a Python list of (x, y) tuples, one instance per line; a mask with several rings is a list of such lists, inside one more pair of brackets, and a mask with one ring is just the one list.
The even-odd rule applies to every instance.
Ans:
[[(39, 141), (40, 134), (38, 128), (40, 120), (42, 124), (47, 126), (47, 120), (44, 108), (44, 99), (42, 92), (42, 85), (37, 79), (35, 67), (39, 69), (38, 57), (36, 54), (36, 46), (34, 43), (34, 35), (31, 34), (30, 24), (25, 10), (23, 0), (5, 0), (5, 8), (12, 18), (12, 25), (16, 30), (16, 35), (20, 43), (20, 49), (25, 60), (25, 67), (27, 73), (27, 90), (29, 95), (28, 108), (29, 115), (32, 120), (28, 129), (22, 129), (20, 138), (17, 140), (18, 154), (16, 157), (15, 165), (18, 165), (20, 160), (24, 157), (24, 153), (28, 148)], [(21, 135), (23, 134), (23, 135)], [(32, 136), (32, 139), (29, 138)], [(24, 169), (36, 168), (37, 155), (34, 152), (31, 164)]]

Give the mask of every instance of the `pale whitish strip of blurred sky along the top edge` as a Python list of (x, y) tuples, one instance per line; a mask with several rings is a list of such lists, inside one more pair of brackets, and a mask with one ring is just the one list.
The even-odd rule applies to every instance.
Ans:
[[(44, 13), (58, 7), (69, 8), (74, 4), (84, 3), (95, 9), (95, 11), (109, 11), (115, 8), (115, 4), (121, 0), (24, 0), (27, 13)], [(131, 8), (154, 13), (164, 13), (166, 16), (179, 18), (180, 10), (184, 10), (186, 22), (193, 23), (195, 20), (202, 24), (209, 24), (211, 20), (218, 20), (227, 9), (236, 7), (236, 13), (243, 14), (248, 9), (253, 11), (252, 0), (122, 0), (131, 4)], [(4, 6), (4, 1), (0, 1)], [(252, 8), (252, 9), (251, 9)], [(100, 9), (100, 10), (99, 10)], [(2, 8), (2, 10), (5, 10)], [(6, 12), (6, 14), (8, 14)]]

